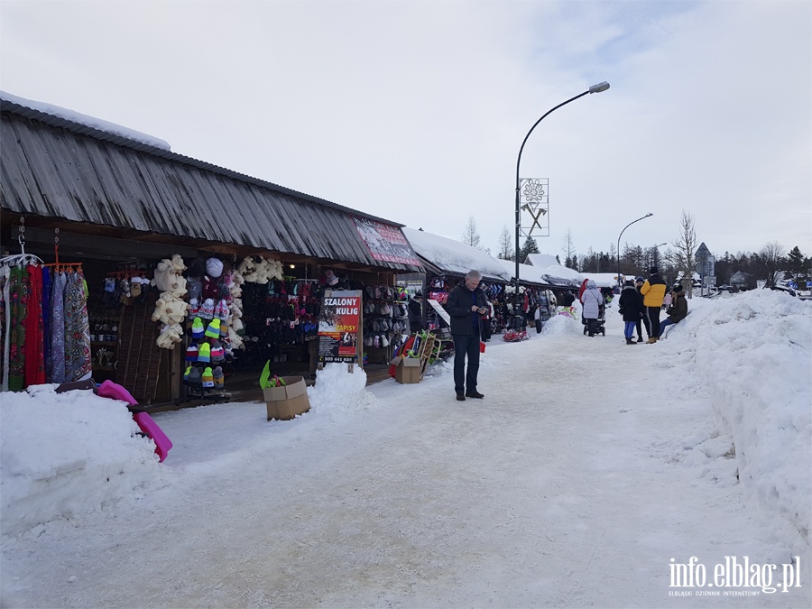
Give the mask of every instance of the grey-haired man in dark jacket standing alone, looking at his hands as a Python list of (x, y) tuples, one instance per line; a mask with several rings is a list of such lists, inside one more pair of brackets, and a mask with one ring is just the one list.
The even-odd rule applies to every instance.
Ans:
[[(454, 390), (457, 400), (484, 398), (476, 391), (479, 372), (479, 318), (487, 311), (488, 300), (479, 287), (482, 273), (469, 271), (448, 293), (446, 310), (451, 317), (451, 337), (454, 338)], [(466, 356), (468, 367), (466, 371)]]

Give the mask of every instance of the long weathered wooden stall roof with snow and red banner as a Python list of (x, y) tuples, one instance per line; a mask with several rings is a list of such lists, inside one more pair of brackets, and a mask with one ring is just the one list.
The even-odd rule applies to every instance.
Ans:
[[(401, 225), (171, 152), (169, 144), (0, 92), (4, 222), (421, 272)], [(287, 259), (287, 258), (286, 258)]]

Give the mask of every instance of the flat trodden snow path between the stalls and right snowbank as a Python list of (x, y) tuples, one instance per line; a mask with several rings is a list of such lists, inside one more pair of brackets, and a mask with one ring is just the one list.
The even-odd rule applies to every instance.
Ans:
[(697, 457), (714, 441), (711, 407), (670, 373), (669, 341), (626, 346), (609, 315), (606, 337), (577, 322), (519, 344), (494, 337), (481, 401), (457, 402), (447, 371), (375, 384), (318, 422), (266, 422), (263, 403), (156, 414), (177, 480), (13, 542), (5, 603), (808, 605), (812, 582), (793, 595), (669, 595), (671, 558), (712, 570), (726, 555), (781, 562), (786, 549), (745, 509), (724, 446)]

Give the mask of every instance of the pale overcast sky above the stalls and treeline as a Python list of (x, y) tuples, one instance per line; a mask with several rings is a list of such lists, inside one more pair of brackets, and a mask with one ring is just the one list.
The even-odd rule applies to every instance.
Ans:
[[(812, 254), (812, 2), (0, 0), (0, 88), (461, 239)], [(530, 225), (526, 217), (523, 224)], [(662, 248), (664, 251), (666, 248)]]

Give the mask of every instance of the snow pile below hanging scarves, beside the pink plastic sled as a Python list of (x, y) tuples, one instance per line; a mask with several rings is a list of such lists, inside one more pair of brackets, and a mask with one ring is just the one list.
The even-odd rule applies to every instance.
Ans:
[(56, 385), (3, 394), (4, 533), (80, 517), (161, 485), (165, 469), (123, 401)]

